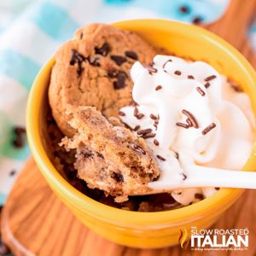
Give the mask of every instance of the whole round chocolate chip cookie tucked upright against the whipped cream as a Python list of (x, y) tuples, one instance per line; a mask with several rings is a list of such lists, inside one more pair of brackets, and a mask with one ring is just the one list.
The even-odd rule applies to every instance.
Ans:
[(71, 137), (67, 106), (94, 106), (107, 117), (131, 102), (130, 68), (148, 64), (156, 49), (134, 32), (105, 24), (79, 29), (55, 54), (49, 104), (61, 131)]

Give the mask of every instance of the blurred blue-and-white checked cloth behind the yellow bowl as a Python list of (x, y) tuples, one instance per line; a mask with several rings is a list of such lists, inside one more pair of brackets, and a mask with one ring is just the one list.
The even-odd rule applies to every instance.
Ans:
[[(135, 18), (218, 20), (229, 0), (0, 1), (0, 205), (30, 155), (25, 109), (38, 70), (80, 26)], [(256, 49), (256, 23), (247, 32)]]

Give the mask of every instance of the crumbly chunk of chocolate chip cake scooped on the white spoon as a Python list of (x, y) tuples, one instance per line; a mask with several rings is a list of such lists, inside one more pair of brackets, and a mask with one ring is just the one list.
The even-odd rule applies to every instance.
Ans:
[(127, 201), (127, 195), (147, 194), (145, 184), (154, 181), (160, 169), (144, 139), (112, 125), (96, 108), (76, 107), (70, 113), (76, 132), (61, 145), (76, 149), (74, 166), (90, 189), (102, 189), (119, 202)]

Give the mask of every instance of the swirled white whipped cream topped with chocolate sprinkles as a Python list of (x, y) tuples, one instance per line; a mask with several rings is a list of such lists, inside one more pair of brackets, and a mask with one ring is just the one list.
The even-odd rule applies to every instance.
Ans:
[[(156, 55), (153, 65), (131, 68), (137, 106), (120, 109), (120, 119), (145, 138), (160, 166), (153, 189), (181, 184), (191, 163), (241, 170), (253, 148), (254, 117), (249, 97), (203, 61)], [(190, 168), (191, 169), (191, 168)], [(214, 188), (172, 191), (183, 205), (212, 195)]]

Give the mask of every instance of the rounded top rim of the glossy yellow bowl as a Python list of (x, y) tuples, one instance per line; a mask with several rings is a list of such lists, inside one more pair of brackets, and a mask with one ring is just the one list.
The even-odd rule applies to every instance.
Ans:
[[(153, 22), (154, 21), (154, 22)], [(157, 24), (156, 24), (157, 23)], [(241, 53), (231, 46), (229, 43), (224, 41), (224, 39), (219, 38), (217, 35), (212, 32), (208, 32), (206, 29), (199, 26), (194, 26), (190, 24), (185, 24), (180, 21), (174, 20), (160, 20), (160, 19), (139, 19), (139, 20), (122, 20), (119, 22), (112, 23), (113, 26), (119, 28), (128, 28), (128, 26), (137, 26), (143, 27), (150, 24), (151, 27), (160, 28), (164, 26), (173, 26), (177, 30), (185, 30), (189, 34), (195, 33), (197, 36), (200, 34), (202, 37), (208, 38), (214, 41), (218, 47), (221, 47), (230, 52), (231, 55), (235, 55), (236, 60), (241, 63), (241, 66), (244, 67), (245, 73), (252, 80), (256, 80), (256, 74), (253, 70), (253, 67), (245, 59)], [(147, 26), (148, 27), (148, 26)], [(177, 223), (178, 221), (185, 221), (189, 218), (198, 218), (199, 216), (211, 212), (212, 208), (215, 210), (223, 207), (220, 204), (221, 201), (225, 201), (228, 204), (236, 200), (236, 197), (241, 195), (245, 189), (219, 189), (214, 193), (214, 195), (207, 197), (201, 201), (196, 202), (195, 204), (184, 206), (178, 209), (162, 211), (162, 212), (135, 212), (135, 211), (126, 211), (116, 207), (109, 207), (105, 204), (102, 204), (99, 201), (91, 199), (89, 196), (84, 195), (78, 189), (75, 189), (67, 180), (61, 176), (61, 174), (56, 170), (55, 166), (50, 162), (48, 155), (44, 149), (42, 139), (39, 132), (39, 113), (41, 103), (43, 101), (43, 93), (45, 90), (45, 80), (49, 79), (49, 73), (51, 68), (54, 66), (55, 59), (54, 57), (50, 58), (46, 62), (44, 67), (41, 68), (36, 79), (32, 84), (32, 89), (29, 94), (27, 107), (26, 107), (26, 131), (28, 137), (28, 143), (30, 145), (32, 156), (37, 162), (38, 168), (46, 177), (47, 180), (50, 180), (49, 186), (56, 192), (61, 192), (61, 197), (69, 198), (68, 204), (72, 207), (79, 208), (83, 212), (89, 213), (91, 216), (108, 220), (110, 222), (119, 222), (120, 224), (168, 224)], [(253, 151), (256, 151), (256, 145), (253, 146)], [(247, 162), (256, 156), (252, 153)], [(247, 164), (242, 168), (246, 170)], [(59, 193), (58, 192), (58, 193)], [(58, 194), (60, 195), (60, 194)], [(232, 200), (233, 199), (233, 200)]]

